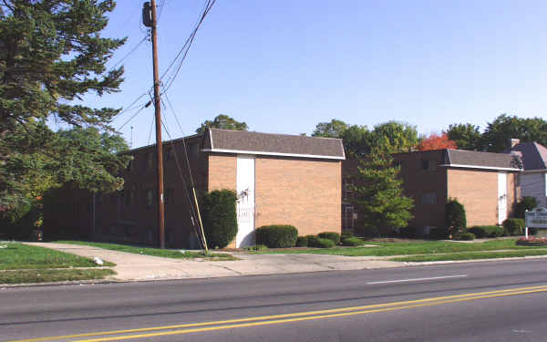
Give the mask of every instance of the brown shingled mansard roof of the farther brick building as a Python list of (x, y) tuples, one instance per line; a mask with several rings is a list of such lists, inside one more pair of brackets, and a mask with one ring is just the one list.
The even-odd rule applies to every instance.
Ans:
[(443, 166), (520, 171), (518, 156), (506, 153), (480, 152), (477, 150), (446, 150)]

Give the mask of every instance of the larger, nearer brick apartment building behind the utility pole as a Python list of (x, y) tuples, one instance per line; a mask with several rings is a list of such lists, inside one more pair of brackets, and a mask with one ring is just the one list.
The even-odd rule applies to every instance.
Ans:
[[(98, 240), (157, 244), (155, 146), (129, 154), (134, 160), (122, 174), (122, 192), (68, 192), (46, 210), (46, 232), (59, 227)], [(253, 230), (266, 224), (292, 224), (301, 235), (341, 230), (342, 140), (212, 129), (164, 143), (163, 155), (170, 247), (199, 248), (190, 173), (198, 193), (237, 193), (232, 247), (254, 244)]]

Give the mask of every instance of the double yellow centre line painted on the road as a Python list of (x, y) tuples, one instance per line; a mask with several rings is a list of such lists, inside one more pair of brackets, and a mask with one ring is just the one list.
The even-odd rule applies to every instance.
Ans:
[[(538, 292), (547, 292), (547, 285), (511, 288), (506, 290), (480, 292), (480, 293), (473, 293), (473, 294), (447, 295), (447, 296), (440, 296), (440, 297), (433, 297), (433, 298), (426, 298), (426, 299), (409, 300), (409, 301), (403, 301), (403, 302), (376, 304), (376, 305), (370, 305), (370, 306), (341, 307), (341, 308), (327, 309), (327, 310), (297, 312), (294, 314), (236, 318), (236, 319), (228, 319), (228, 320), (213, 321), (213, 322), (181, 324), (176, 326), (154, 326), (154, 327), (145, 327), (145, 328), (139, 328), (139, 329), (102, 331), (97, 333), (66, 335), (66, 336), (57, 336), (57, 337), (39, 337), (39, 338), (20, 339), (20, 340), (9, 341), (9, 342), (39, 342), (39, 341), (52, 341), (52, 340), (53, 341), (71, 340), (71, 341), (78, 341), (78, 342), (118, 341), (123, 339), (181, 335), (181, 334), (198, 333), (198, 332), (205, 332), (205, 331), (212, 331), (212, 330), (232, 329), (237, 327), (268, 326), (268, 325), (274, 325), (274, 324), (301, 322), (301, 321), (325, 319), (325, 318), (332, 318), (332, 317), (363, 315), (363, 314), (371, 314), (371, 313), (377, 313), (377, 312), (395, 311), (395, 310), (407, 309), (411, 307), (438, 306), (441, 304), (457, 303), (457, 302), (471, 301), (471, 300), (484, 299), (484, 298), (502, 297), (502, 296), (508, 296), (508, 295), (525, 295), (525, 294), (532, 294), (532, 293), (538, 293)], [(144, 333), (144, 334), (137, 334), (137, 333)], [(93, 337), (93, 338), (75, 339), (79, 337)]]

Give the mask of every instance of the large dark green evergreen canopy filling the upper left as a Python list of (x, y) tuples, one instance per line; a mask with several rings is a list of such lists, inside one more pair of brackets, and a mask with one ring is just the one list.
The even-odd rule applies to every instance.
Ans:
[[(123, 67), (106, 63), (125, 38), (106, 38), (112, 0), (0, 3), (0, 213), (74, 182), (116, 190), (129, 157), (110, 126), (119, 109), (82, 104), (119, 90)], [(74, 130), (53, 132), (48, 119)], [(110, 131), (110, 133), (104, 133)], [(102, 133), (101, 133), (102, 132)]]

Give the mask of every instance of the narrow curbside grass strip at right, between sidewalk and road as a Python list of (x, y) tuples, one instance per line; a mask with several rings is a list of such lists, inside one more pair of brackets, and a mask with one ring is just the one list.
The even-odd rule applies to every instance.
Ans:
[(464, 252), (450, 254), (426, 254), (426, 255), (411, 255), (389, 259), (390, 261), (399, 262), (416, 262), (423, 263), (429, 261), (458, 261), (458, 260), (476, 260), (476, 259), (498, 259), (511, 258), (521, 256), (536, 256), (547, 255), (547, 248), (518, 250), (518, 251), (503, 251), (503, 252)]

